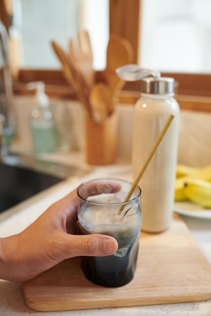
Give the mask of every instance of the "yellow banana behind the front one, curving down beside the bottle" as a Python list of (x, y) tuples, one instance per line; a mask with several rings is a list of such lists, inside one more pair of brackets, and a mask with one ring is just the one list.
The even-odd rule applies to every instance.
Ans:
[(198, 171), (176, 179), (175, 181), (175, 201), (180, 202), (187, 199), (187, 196), (184, 193), (184, 184), (188, 182), (189, 179), (201, 179), (209, 181), (211, 180), (211, 165), (208, 165), (204, 168), (200, 168)]

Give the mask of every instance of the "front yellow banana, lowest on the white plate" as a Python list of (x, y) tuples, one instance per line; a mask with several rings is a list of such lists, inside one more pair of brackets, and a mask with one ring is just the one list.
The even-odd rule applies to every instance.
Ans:
[(189, 179), (184, 185), (184, 194), (191, 202), (211, 208), (211, 182)]

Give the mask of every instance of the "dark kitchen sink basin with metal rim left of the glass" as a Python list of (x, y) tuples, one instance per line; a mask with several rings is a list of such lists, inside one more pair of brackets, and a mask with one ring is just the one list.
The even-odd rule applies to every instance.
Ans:
[[(75, 166), (11, 155), (0, 161), (0, 213), (68, 178), (87, 174)], [(5, 212), (6, 213), (6, 212)]]

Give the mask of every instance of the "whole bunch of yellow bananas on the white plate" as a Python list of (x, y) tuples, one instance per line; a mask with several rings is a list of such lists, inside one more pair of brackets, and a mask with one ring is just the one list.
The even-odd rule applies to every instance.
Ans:
[[(193, 188), (191, 185), (191, 181), (193, 180), (202, 181), (197, 183), (198, 190), (196, 189), (196, 183), (194, 184), (194, 190), (191, 189)], [(211, 182), (209, 183), (208, 181), (211, 181), (211, 165), (208, 165), (204, 168), (177, 165), (175, 180), (175, 201), (179, 202), (189, 199), (194, 202), (197, 199), (197, 204), (200, 204), (204, 207), (210, 207), (211, 205), (207, 204), (207, 200), (210, 200), (211, 203)], [(204, 199), (204, 196), (203, 198), (201, 197), (201, 191), (207, 195), (207, 199)], [(196, 192), (198, 192), (198, 195)], [(192, 197), (193, 195), (194, 197)], [(206, 202), (203, 202), (203, 199)]]

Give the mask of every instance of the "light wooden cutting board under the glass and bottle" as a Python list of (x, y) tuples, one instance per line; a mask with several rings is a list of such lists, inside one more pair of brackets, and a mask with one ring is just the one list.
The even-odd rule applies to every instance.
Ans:
[(72, 258), (23, 283), (25, 303), (40, 311), (195, 302), (211, 298), (211, 266), (186, 224), (174, 215), (161, 234), (141, 232), (134, 279), (119, 288), (95, 285)]

